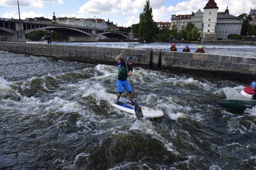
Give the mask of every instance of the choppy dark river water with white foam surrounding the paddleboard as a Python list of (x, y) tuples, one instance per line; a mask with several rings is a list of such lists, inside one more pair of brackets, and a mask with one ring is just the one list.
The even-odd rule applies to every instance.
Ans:
[(138, 120), (108, 103), (117, 65), (0, 51), (0, 71), (0, 169), (256, 169), (256, 111), (227, 110), (211, 94), (252, 80), (134, 63), (137, 103), (164, 112)]

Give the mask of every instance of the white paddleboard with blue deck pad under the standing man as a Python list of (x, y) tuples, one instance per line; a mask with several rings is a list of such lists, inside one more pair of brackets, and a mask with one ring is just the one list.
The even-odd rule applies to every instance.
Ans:
[[(134, 104), (132, 104), (129, 100), (126, 100), (125, 98), (120, 98), (119, 99), (119, 103), (117, 103), (116, 99), (116, 95), (114, 94), (110, 94), (110, 93), (106, 93), (107, 96), (109, 96), (110, 100), (109, 103), (111, 106), (120, 109), (122, 111), (131, 113), (131, 114), (135, 114), (134, 111)], [(148, 118), (157, 118), (157, 117), (161, 117), (163, 116), (163, 111), (161, 110), (155, 110), (155, 109), (151, 109), (149, 107), (144, 107), (144, 106), (140, 106), (143, 116), (144, 117), (148, 117)]]

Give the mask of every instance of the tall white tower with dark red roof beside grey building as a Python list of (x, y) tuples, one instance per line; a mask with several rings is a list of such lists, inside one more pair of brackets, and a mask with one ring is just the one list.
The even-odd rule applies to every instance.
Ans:
[(214, 0), (209, 0), (204, 8), (202, 40), (216, 39), (216, 22), (218, 6)]

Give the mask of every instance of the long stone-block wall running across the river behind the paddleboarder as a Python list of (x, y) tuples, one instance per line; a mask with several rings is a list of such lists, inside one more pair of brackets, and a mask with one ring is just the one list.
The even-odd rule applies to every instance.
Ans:
[(18, 54), (55, 57), (85, 63), (116, 64), (115, 57), (125, 50), (134, 58), (134, 66), (150, 69), (179, 70), (191, 74), (209, 74), (226, 78), (252, 79), (256, 74), (256, 58), (221, 56), (202, 53), (138, 50), (125, 48), (0, 42), (0, 50)]

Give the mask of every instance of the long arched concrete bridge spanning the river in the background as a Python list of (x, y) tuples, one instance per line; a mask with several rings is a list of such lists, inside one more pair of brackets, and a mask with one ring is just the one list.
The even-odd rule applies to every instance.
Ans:
[(105, 30), (100, 28), (83, 27), (41, 21), (26, 21), (21, 19), (0, 18), (1, 41), (26, 42), (25, 34), (36, 30), (53, 30), (70, 36), (70, 42), (98, 41), (97, 37), (104, 35), (109, 39), (134, 39), (138, 34)]

